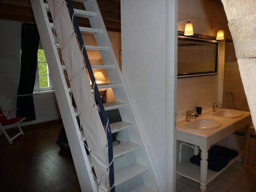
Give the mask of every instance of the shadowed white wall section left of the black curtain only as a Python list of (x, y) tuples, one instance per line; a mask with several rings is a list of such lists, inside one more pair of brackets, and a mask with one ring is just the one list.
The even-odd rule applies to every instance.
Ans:
[(0, 25), (0, 106), (14, 109), (19, 81), (22, 24), (0, 20)]

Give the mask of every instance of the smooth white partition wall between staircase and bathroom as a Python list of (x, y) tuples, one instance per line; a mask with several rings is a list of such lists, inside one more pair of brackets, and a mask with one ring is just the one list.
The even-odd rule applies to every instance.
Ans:
[(175, 1), (121, 1), (122, 73), (162, 191), (165, 184), (173, 186), (172, 181), (165, 183), (166, 129), (170, 129), (166, 119), (172, 118), (166, 117), (167, 2)]

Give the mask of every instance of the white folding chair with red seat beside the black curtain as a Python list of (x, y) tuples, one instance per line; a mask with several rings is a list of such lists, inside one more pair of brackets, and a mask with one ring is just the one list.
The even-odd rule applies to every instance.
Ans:
[[(12, 110), (6, 110), (6, 111), (8, 111), (7, 117), (3, 113), (5, 111), (0, 110), (0, 135), (2, 135), (4, 133), (5, 137), (9, 141), (9, 143), (12, 144), (13, 139), (18, 137), (19, 135), (24, 135), (24, 133), (22, 131), (22, 127), (19, 126), (19, 123), (22, 122), (26, 118), (14, 117), (12, 114)], [(11, 119), (8, 119), (9, 115), (11, 116)], [(12, 138), (10, 138), (5, 130), (10, 127), (13, 127), (14, 125), (16, 125), (18, 127), (19, 133), (17, 135), (13, 136)]]

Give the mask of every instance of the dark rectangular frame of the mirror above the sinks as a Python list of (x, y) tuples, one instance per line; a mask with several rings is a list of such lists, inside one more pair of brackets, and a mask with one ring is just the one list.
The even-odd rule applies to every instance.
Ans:
[[(214, 71), (203, 71), (203, 72), (196, 72), (196, 73), (187, 73), (187, 74), (177, 74), (178, 78), (185, 78), (185, 77), (197, 77), (197, 76), (206, 76), (206, 75), (217, 75), (218, 74), (218, 61), (219, 61), (219, 41), (211, 40), (211, 39), (200, 39), (188, 36), (178, 36), (178, 40), (186, 40), (186, 41), (193, 41), (193, 42), (207, 42), (210, 44), (215, 44), (216, 46), (216, 57), (215, 57), (215, 70)], [(178, 61), (177, 61), (178, 65)]]

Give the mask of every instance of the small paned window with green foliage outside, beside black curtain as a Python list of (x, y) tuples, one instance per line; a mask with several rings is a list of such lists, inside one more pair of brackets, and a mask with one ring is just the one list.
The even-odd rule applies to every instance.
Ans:
[(49, 75), (45, 52), (42, 49), (38, 49), (34, 91), (45, 90), (53, 90), (53, 86)]

